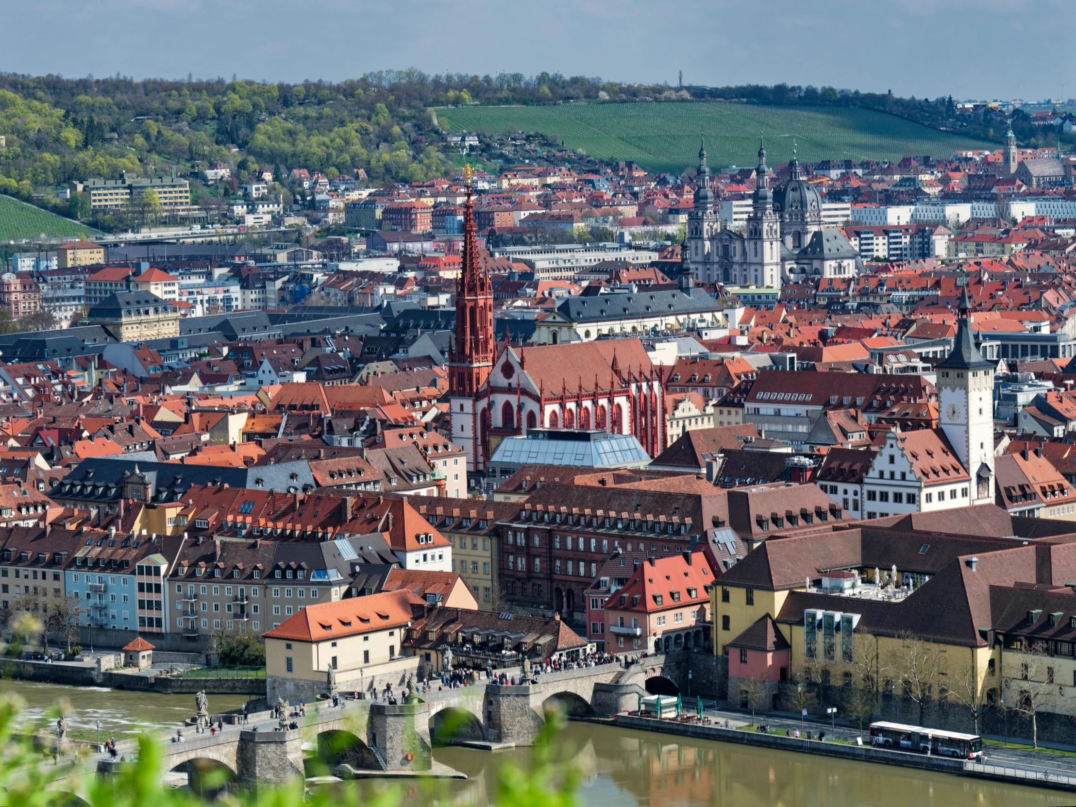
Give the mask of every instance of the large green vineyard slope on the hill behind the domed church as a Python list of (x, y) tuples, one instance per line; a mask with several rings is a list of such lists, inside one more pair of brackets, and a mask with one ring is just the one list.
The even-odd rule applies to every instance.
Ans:
[(597, 159), (635, 160), (650, 171), (680, 172), (695, 165), (706, 132), (710, 166), (753, 166), (759, 132), (771, 165), (799, 159), (948, 157), (996, 144), (937, 131), (881, 112), (837, 107), (762, 107), (745, 103), (606, 103), (561, 107), (439, 109), (447, 131), (538, 131)]

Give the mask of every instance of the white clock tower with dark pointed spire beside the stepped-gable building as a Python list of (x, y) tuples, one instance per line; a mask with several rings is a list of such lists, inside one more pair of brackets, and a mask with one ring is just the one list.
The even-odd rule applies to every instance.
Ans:
[(972, 477), (969, 505), (994, 502), (994, 365), (972, 334), (972, 303), (964, 287), (952, 352), (937, 365), (938, 425)]

